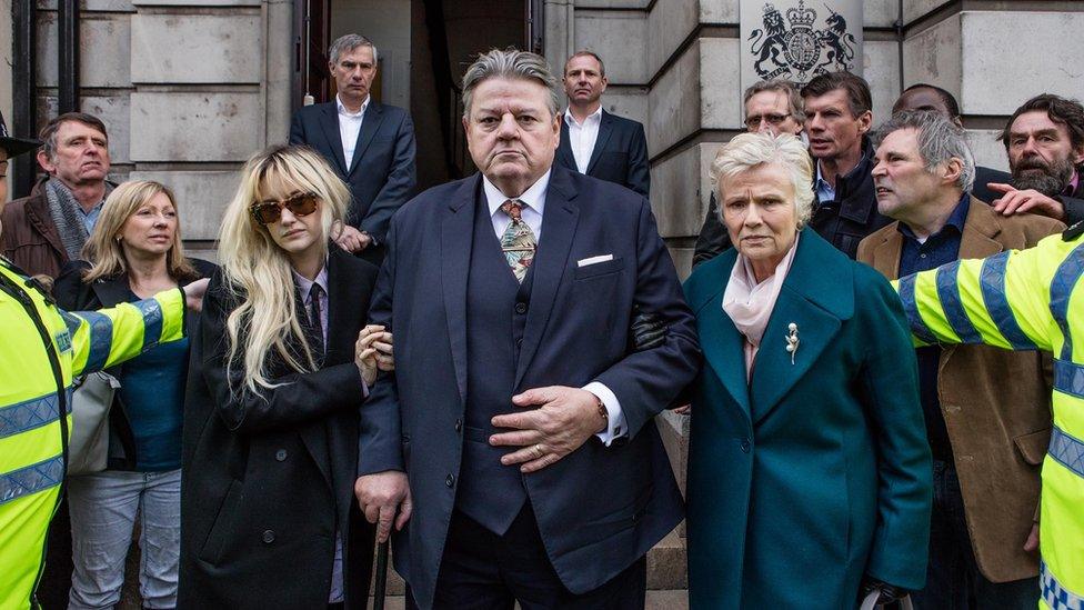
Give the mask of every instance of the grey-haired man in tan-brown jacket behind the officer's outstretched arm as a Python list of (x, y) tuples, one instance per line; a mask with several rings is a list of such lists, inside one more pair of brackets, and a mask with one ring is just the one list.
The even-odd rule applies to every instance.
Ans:
[[(1034, 246), (1053, 219), (1002, 217), (971, 196), (963, 130), (936, 112), (903, 112), (877, 133), (877, 209), (896, 220), (859, 246), (890, 279)], [(946, 280), (954, 276), (948, 267)], [(946, 282), (945, 290), (954, 283)], [(957, 320), (960, 333), (978, 332)], [(934, 458), (926, 588), (917, 608), (1035, 608), (1040, 464), (1050, 441), (1050, 362), (984, 346), (916, 350)]]

